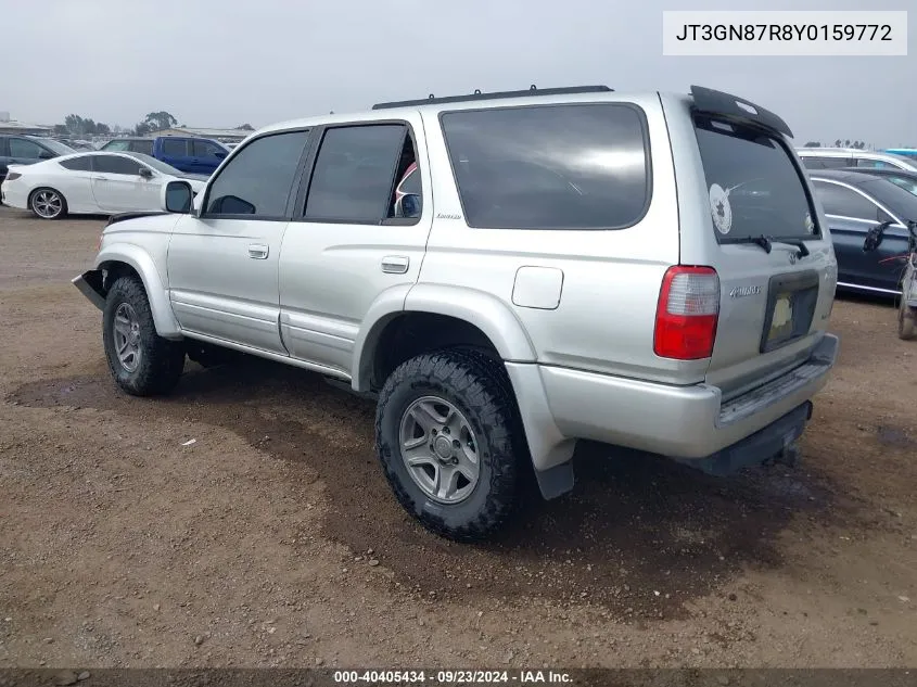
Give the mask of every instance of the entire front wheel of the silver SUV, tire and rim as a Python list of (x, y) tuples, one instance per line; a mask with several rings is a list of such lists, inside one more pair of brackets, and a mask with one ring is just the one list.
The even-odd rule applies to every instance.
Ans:
[(178, 383), (184, 344), (156, 333), (150, 301), (137, 277), (120, 277), (109, 289), (102, 340), (112, 376), (128, 394), (165, 394)]

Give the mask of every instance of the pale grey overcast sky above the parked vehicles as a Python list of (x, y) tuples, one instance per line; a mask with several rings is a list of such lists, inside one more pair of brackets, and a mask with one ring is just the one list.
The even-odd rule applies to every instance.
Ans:
[[(906, 58), (662, 56), (666, 9), (908, 5)], [(800, 144), (917, 145), (913, 0), (0, 0), (0, 111), (30, 123), (132, 126), (167, 110), (257, 128), (431, 92), (698, 84), (776, 111)]]

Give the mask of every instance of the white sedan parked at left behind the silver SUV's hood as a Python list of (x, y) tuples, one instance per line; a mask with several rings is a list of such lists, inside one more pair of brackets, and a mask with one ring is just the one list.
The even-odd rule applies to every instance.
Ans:
[(207, 181), (143, 153), (77, 153), (10, 165), (0, 201), (41, 219), (156, 211), (163, 186), (175, 179), (187, 180), (195, 194)]

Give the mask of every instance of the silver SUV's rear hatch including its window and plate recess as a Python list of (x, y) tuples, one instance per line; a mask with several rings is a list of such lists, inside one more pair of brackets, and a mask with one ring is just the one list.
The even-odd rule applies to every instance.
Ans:
[(837, 264), (786, 138), (738, 117), (691, 116), (709, 212), (701, 226), (683, 224), (682, 262), (718, 276), (705, 381), (729, 398), (808, 358), (828, 325)]

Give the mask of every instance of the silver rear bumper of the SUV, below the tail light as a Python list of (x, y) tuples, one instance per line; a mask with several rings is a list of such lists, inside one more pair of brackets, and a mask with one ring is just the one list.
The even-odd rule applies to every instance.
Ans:
[[(807, 402), (826, 384), (838, 347), (838, 338), (826, 334), (805, 364), (725, 404), (721, 391), (708, 384), (672, 386), (530, 366), (539, 371), (543, 389), (538, 390), (530, 383), (532, 376), (519, 369), (522, 365), (508, 364), (507, 369), (520, 397), (526, 434), (536, 434), (534, 442), (530, 436), (530, 447), (537, 469), (558, 465), (564, 455), (569, 458), (569, 451), (545, 450), (545, 445), (556, 446), (575, 438), (690, 461), (740, 447), (740, 442), (751, 441), (752, 435), (768, 428), (766, 437), (759, 434), (746, 449), (752, 445), (769, 446), (777, 441), (774, 437), (782, 443), (791, 428), (782, 427), (781, 422), (787, 416), (792, 416), (792, 421), (806, 416), (801, 421), (804, 425)], [(533, 407), (537, 409), (539, 392), (549, 414), (543, 411), (534, 419), (526, 418)], [(551, 422), (546, 424), (548, 419)]]

